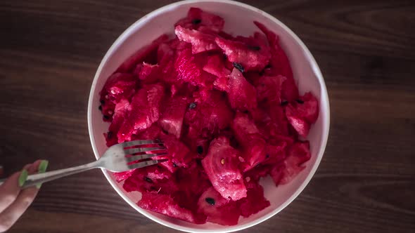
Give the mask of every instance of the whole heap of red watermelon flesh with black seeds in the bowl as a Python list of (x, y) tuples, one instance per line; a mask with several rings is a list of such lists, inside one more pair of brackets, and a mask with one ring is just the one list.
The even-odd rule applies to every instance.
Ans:
[(317, 121), (318, 100), (298, 95), (278, 36), (256, 24), (263, 34), (232, 36), (222, 18), (191, 8), (177, 36), (160, 36), (108, 78), (100, 93), (107, 145), (160, 139), (167, 147), (158, 157), (167, 161), (113, 174), (143, 194), (142, 208), (236, 225), (269, 206), (260, 178), (283, 185), (305, 168), (309, 143), (298, 136)]

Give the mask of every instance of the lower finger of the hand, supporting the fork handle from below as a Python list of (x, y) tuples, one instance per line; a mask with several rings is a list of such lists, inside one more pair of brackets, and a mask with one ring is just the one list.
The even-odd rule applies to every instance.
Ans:
[[(36, 161), (34, 164), (32, 164), (32, 166), (27, 168), (27, 171), (30, 171), (30, 173), (37, 172), (39, 164), (40, 162)], [(29, 187), (23, 189), (18, 194), (18, 197), (15, 199), (15, 201), (13, 201), (10, 206), (8, 206), (3, 212), (0, 213), (1, 227), (4, 228), (4, 231), (10, 228), (20, 218), (20, 216), (25, 213), (27, 207), (32, 204), (34, 197), (37, 195), (37, 192), (39, 192), (37, 187)]]

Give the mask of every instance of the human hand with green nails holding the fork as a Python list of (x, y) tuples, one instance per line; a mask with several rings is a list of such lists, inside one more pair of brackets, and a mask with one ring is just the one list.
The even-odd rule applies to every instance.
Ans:
[(25, 184), (27, 175), (44, 173), (47, 166), (46, 160), (37, 160), (33, 164), (27, 164), (22, 171), (11, 175), (0, 186), (0, 232), (6, 232), (25, 213), (39, 192), (40, 185), (26, 189), (20, 188)]

